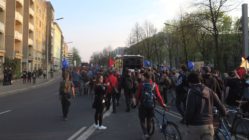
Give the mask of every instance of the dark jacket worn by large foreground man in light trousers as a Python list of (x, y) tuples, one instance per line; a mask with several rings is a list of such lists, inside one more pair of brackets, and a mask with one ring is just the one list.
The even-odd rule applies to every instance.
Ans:
[(214, 106), (217, 107), (221, 115), (226, 115), (226, 109), (216, 93), (203, 84), (191, 85), (184, 115), (187, 125), (213, 124)]

